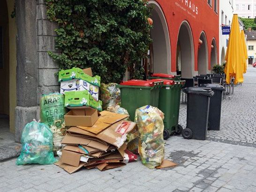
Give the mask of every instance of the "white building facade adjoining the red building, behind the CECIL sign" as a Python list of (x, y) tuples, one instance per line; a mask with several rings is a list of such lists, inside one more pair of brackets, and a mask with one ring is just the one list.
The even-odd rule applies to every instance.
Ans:
[[(233, 8), (235, 6), (235, 3), (233, 3), (232, 7), (232, 0), (219, 0), (219, 60), (218, 63), (221, 63), (221, 51), (222, 47), (225, 49), (225, 54), (226, 54), (226, 40), (228, 39), (228, 35), (222, 35), (222, 30), (221, 30), (221, 24), (229, 24), (232, 23), (233, 19)], [(222, 19), (222, 11), (223, 11), (223, 19)], [(226, 17), (226, 19), (225, 19)], [(223, 21), (222, 21), (223, 20)], [(226, 22), (226, 23), (225, 23)]]

